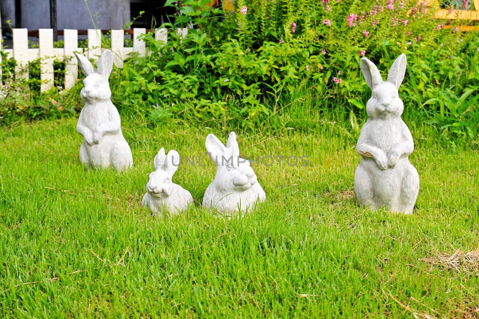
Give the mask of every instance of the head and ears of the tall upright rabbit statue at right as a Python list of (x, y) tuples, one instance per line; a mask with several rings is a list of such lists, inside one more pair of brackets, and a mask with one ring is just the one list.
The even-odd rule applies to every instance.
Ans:
[(383, 81), (376, 65), (366, 58), (361, 59), (361, 69), (372, 95), (367, 101), (366, 111), (370, 118), (401, 116), (404, 109), (398, 89), (406, 72), (406, 55), (401, 54), (389, 70), (388, 80)]

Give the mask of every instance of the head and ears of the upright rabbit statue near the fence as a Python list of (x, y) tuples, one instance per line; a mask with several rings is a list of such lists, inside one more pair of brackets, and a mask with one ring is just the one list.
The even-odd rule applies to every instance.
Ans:
[(80, 93), (81, 99), (90, 103), (109, 100), (112, 96), (108, 83), (113, 67), (112, 52), (110, 50), (103, 52), (96, 71), (84, 55), (77, 54), (77, 59), (86, 76)]

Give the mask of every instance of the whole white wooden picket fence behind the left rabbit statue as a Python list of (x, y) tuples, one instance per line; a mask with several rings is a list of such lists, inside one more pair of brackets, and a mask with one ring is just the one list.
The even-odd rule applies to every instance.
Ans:
[[(15, 67), (15, 75), (17, 78), (28, 79), (28, 62), (41, 58), (40, 67), (40, 90), (46, 91), (53, 87), (53, 61), (58, 59), (65, 61), (65, 89), (69, 89), (75, 85), (78, 79), (78, 62), (74, 57), (74, 53), (83, 53), (90, 59), (98, 60), (103, 50), (102, 48), (102, 33), (101, 30), (88, 30), (88, 48), (83, 49), (78, 47), (78, 30), (64, 30), (64, 47), (53, 47), (53, 30), (40, 29), (39, 31), (39, 47), (28, 48), (28, 30), (27, 29), (13, 29), (13, 48), (2, 49), (0, 43), (0, 50), (4, 51), (8, 58), (14, 58), (17, 62)], [(181, 28), (177, 30), (180, 36), (185, 36), (188, 33), (188, 28)], [(132, 52), (138, 52), (140, 56), (147, 54), (145, 43), (138, 39), (140, 34), (146, 33), (144, 28), (133, 29), (133, 47), (124, 46), (124, 30), (111, 31), (111, 51), (113, 53), (113, 62), (118, 67), (123, 67), (123, 61)], [(1, 31), (0, 31), (1, 35)], [(155, 39), (160, 40), (166, 44), (168, 40), (167, 29), (156, 29)], [(1, 62), (1, 55), (0, 55)], [(0, 68), (0, 86), (1, 83), (1, 68)]]

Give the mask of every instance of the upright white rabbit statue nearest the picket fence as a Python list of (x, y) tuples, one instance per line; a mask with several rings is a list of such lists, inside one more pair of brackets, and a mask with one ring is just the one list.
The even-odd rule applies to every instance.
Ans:
[(80, 161), (85, 166), (106, 168), (113, 164), (118, 171), (128, 169), (133, 165), (130, 146), (121, 132), (120, 114), (110, 99), (112, 52), (103, 52), (96, 71), (85, 56), (77, 54), (77, 59), (86, 76), (80, 93), (85, 106), (77, 123), (77, 131), (83, 135)]

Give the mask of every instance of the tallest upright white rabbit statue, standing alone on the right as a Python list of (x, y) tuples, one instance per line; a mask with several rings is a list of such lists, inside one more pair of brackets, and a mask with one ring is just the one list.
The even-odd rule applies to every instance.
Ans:
[(356, 146), (362, 156), (354, 175), (356, 197), (371, 210), (385, 207), (411, 214), (419, 192), (419, 175), (408, 159), (414, 142), (401, 119), (404, 105), (398, 95), (406, 72), (406, 55), (394, 61), (387, 81), (366, 58), (361, 59), (361, 69), (372, 96), (366, 104), (368, 119)]

